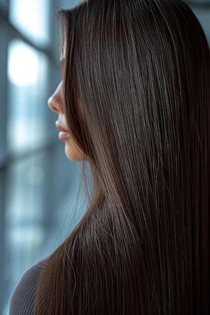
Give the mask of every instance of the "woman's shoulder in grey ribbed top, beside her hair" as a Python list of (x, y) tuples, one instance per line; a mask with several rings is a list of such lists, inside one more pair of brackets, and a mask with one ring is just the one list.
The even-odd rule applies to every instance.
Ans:
[(34, 312), (34, 303), (36, 288), (39, 276), (44, 268), (48, 257), (40, 260), (24, 272), (16, 285), (10, 302), (10, 315), (32, 315)]

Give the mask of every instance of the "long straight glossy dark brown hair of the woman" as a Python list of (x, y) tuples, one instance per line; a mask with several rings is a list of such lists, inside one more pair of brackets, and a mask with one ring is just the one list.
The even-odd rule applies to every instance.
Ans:
[(209, 313), (210, 55), (180, 0), (61, 10), (69, 131), (92, 170), (35, 314)]

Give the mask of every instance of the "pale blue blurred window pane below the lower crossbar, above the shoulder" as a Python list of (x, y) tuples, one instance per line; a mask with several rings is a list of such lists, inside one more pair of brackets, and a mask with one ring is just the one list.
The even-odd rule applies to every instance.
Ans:
[(7, 298), (37, 251), (40, 252), (45, 238), (44, 167), (44, 157), (40, 155), (17, 161), (7, 168), (3, 265)]

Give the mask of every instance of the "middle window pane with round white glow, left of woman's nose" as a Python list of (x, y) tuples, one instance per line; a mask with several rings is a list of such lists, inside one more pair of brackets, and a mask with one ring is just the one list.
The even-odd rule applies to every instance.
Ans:
[(9, 43), (9, 152), (34, 148), (46, 139), (47, 57), (21, 40)]

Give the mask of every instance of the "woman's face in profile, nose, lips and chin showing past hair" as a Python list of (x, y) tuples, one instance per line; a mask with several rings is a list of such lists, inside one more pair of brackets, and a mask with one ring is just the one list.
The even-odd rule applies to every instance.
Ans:
[(64, 109), (63, 109), (63, 93), (62, 81), (59, 83), (57, 89), (48, 100), (48, 106), (51, 110), (58, 114), (58, 119), (55, 122), (56, 128), (59, 132), (59, 140), (65, 142), (65, 155), (72, 161), (83, 161), (84, 153), (77, 146), (71, 134), (67, 131)]

